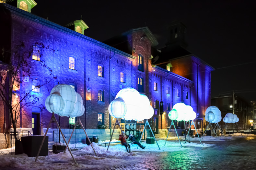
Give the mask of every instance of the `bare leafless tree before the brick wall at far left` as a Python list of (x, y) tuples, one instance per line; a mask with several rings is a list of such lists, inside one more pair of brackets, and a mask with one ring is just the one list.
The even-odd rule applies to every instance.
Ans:
[[(25, 45), (24, 42), (13, 45), (13, 48), (9, 52), (9, 61), (6, 64), (6, 69), (1, 70), (0, 82), (0, 98), (5, 103), (6, 109), (10, 118), (11, 125), (13, 127), (14, 134), (16, 134), (17, 123), (20, 118), (23, 108), (36, 106), (41, 109), (44, 105), (38, 104), (40, 98), (33, 93), (40, 89), (42, 86), (50, 83), (57, 76), (53, 76), (52, 69), (45, 64), (45, 61), (36, 61), (42, 58), (42, 50), (49, 50), (54, 53), (54, 50), (45, 46), (41, 42), (36, 42), (33, 45)], [(32, 59), (33, 55), (33, 59)], [(34, 56), (36, 55), (36, 56)], [(36, 57), (36, 58), (34, 58)], [(39, 68), (42, 67), (42, 68)], [(27, 86), (24, 82), (29, 79), (32, 80), (32, 72), (35, 70), (43, 70), (46, 73), (44, 80), (33, 86)], [(5, 132), (8, 133), (9, 127), (6, 127)], [(15, 136), (15, 140), (17, 136)]]

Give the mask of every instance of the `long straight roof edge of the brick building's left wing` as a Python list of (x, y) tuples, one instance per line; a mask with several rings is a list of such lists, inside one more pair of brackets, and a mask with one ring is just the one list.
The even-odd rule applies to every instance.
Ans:
[(66, 28), (64, 26), (61, 26), (61, 25), (58, 25), (56, 23), (53, 23), (52, 21), (49, 21), (49, 20), (46, 20), (44, 18), (41, 18), (37, 15), (34, 15), (34, 14), (31, 14), (29, 12), (26, 12), (22, 9), (19, 9), (17, 7), (14, 7), (12, 5), (9, 5), (9, 4), (6, 4), (6, 3), (0, 3), (0, 6), (5, 6), (5, 8), (7, 10), (10, 10), (12, 13), (14, 14), (17, 14), (17, 15), (23, 15), (24, 17), (27, 17), (29, 19), (32, 19), (32, 20), (36, 20), (38, 23), (42, 24), (42, 25), (47, 25), (53, 29), (58, 29), (59, 31), (62, 31), (63, 33), (66, 33), (68, 35), (73, 35), (74, 37), (77, 37), (77, 38), (80, 38), (80, 39), (83, 39), (83, 40), (86, 40), (86, 41), (89, 41), (90, 43), (94, 44), (94, 45), (100, 45), (101, 47), (105, 48), (105, 49), (108, 49), (108, 50), (114, 50), (115, 53), (117, 54), (120, 54), (120, 55), (124, 55), (125, 57), (128, 57), (128, 58), (132, 58), (132, 59), (136, 59), (135, 56), (133, 55), (130, 55), (128, 53), (125, 53), (121, 50), (118, 50), (114, 47), (111, 47), (109, 45), (106, 45), (102, 42), (99, 42), (93, 38), (90, 38), (90, 37), (87, 37), (86, 35), (83, 35), (83, 34), (80, 34), (80, 33), (77, 33), (76, 31), (73, 31), (69, 28)]

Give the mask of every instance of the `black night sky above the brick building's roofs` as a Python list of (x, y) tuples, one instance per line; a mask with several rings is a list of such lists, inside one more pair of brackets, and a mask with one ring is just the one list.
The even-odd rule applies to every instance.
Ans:
[(148, 26), (162, 48), (173, 21), (187, 26), (187, 50), (215, 68), (212, 97), (235, 90), (256, 101), (256, 2), (35, 0), (32, 14), (59, 25), (74, 20), (89, 26), (85, 35), (104, 41), (133, 28)]

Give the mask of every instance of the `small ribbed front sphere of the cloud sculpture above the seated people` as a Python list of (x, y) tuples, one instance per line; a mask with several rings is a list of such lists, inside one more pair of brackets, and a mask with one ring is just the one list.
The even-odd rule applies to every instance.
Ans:
[(109, 105), (109, 114), (115, 118), (122, 118), (127, 111), (127, 107), (121, 97), (117, 97)]

